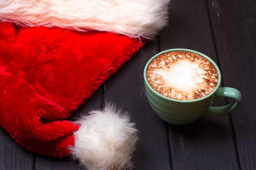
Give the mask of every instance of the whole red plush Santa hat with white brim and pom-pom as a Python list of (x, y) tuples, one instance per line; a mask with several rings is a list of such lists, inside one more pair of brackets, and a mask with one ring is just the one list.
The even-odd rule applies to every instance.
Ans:
[(168, 2), (1, 0), (0, 125), (33, 152), (131, 168), (137, 130), (126, 114), (107, 105), (66, 119), (166, 25)]

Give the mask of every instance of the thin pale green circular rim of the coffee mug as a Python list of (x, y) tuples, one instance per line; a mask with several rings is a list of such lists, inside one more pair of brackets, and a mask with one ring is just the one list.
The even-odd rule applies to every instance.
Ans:
[[(217, 69), (217, 73), (218, 73), (218, 83), (217, 83), (215, 89), (214, 89), (211, 93), (209, 93), (208, 95), (206, 95), (206, 96), (204, 96), (204, 97), (202, 97), (202, 98), (193, 99), (193, 100), (184, 100), (184, 101), (183, 101), (183, 100), (177, 100), (177, 99), (168, 98), (168, 97), (166, 97), (166, 96), (164, 96), (164, 95), (161, 95), (161, 94), (158, 93), (154, 88), (152, 88), (151, 85), (149, 85), (148, 79), (147, 79), (147, 76), (146, 76), (146, 75), (147, 75), (147, 74), (146, 74), (146, 73), (147, 73), (147, 68), (148, 68), (149, 64), (151, 63), (151, 61), (154, 60), (156, 57), (158, 57), (158, 56), (161, 55), (162, 53), (170, 52), (170, 51), (188, 51), (188, 52), (193, 52), (193, 53), (199, 54), (200, 56), (202, 56), (202, 57), (206, 58), (208, 61), (210, 61), (210, 62), (214, 65), (214, 67)], [(159, 97), (161, 97), (161, 98), (163, 98), (163, 99), (166, 99), (166, 100), (168, 100), (168, 101), (173, 101), (173, 102), (198, 102), (198, 101), (205, 100), (205, 99), (207, 99), (207, 98), (209, 98), (209, 97), (211, 97), (212, 95), (215, 94), (215, 92), (218, 90), (219, 85), (220, 85), (220, 83), (221, 83), (221, 74), (220, 74), (220, 70), (219, 70), (217, 64), (216, 64), (210, 57), (208, 57), (207, 55), (205, 55), (205, 54), (203, 54), (203, 53), (201, 53), (201, 52), (195, 51), (195, 50), (181, 49), (181, 48), (169, 49), (169, 50), (161, 51), (161, 52), (158, 52), (157, 54), (155, 54), (152, 58), (150, 58), (150, 59), (148, 60), (147, 64), (145, 65), (145, 68), (144, 68), (144, 71), (143, 71), (143, 77), (144, 77), (144, 82), (145, 82), (145, 84), (148, 86), (148, 88), (149, 88), (151, 91), (153, 91), (157, 96), (159, 96)]]

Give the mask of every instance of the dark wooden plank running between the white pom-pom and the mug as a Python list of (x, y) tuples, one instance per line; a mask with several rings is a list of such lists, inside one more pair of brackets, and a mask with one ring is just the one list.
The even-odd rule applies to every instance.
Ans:
[(157, 42), (145, 47), (105, 83), (104, 101), (129, 111), (139, 130), (134, 170), (170, 170), (166, 124), (153, 112), (145, 97), (143, 69), (158, 52)]

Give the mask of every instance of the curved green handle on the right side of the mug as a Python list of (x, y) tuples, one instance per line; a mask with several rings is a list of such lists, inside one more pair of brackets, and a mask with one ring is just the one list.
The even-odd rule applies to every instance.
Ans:
[(241, 93), (236, 88), (231, 87), (219, 87), (215, 98), (228, 97), (234, 99), (234, 102), (225, 106), (213, 107), (210, 106), (203, 116), (222, 116), (232, 112), (239, 102), (241, 101)]

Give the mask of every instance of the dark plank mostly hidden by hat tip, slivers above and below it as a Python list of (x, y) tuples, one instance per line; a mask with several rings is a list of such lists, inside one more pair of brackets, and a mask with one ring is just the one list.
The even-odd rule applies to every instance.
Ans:
[[(86, 114), (91, 110), (100, 109), (102, 107), (101, 99), (103, 94), (103, 86), (85, 102), (79, 110), (70, 118), (72, 121), (80, 117), (80, 114)], [(50, 158), (42, 155), (37, 155), (35, 170), (84, 170), (83, 167), (79, 167), (77, 161), (73, 161), (70, 157), (67, 158)]]

